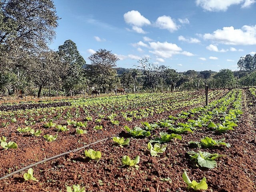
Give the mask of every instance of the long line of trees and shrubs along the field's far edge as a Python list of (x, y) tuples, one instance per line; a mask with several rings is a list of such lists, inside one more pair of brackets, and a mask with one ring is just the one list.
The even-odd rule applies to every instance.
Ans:
[(205, 81), (210, 88), (234, 87), (237, 77), (238, 86), (256, 85), (256, 54), (241, 57), (238, 72), (180, 73), (149, 58), (138, 60), (136, 69), (116, 68), (118, 57), (106, 49), (96, 51), (86, 64), (72, 40), (57, 51), (48, 47), (59, 20), (52, 0), (2, 0), (0, 7), (0, 96), (72, 96), (92, 87), (106, 93), (116, 85), (140, 92), (190, 90), (203, 88)]

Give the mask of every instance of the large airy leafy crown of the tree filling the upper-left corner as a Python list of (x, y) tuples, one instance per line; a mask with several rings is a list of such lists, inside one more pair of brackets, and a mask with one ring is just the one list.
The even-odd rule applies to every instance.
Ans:
[(0, 6), (0, 68), (47, 48), (59, 19), (52, 0), (1, 0)]

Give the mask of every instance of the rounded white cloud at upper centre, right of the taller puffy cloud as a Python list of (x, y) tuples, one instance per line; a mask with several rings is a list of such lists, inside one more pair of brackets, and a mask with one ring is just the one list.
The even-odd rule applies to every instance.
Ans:
[(170, 32), (174, 32), (178, 30), (178, 26), (176, 23), (172, 20), (170, 16), (160, 16), (156, 20), (156, 26), (160, 29), (167, 29)]

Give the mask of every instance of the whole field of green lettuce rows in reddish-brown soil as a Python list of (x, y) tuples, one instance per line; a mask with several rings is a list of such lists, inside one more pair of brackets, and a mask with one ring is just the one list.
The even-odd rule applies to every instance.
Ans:
[(253, 192), (256, 90), (208, 98), (208, 106), (204, 91), (1, 105), (0, 177), (67, 153), (0, 180), (0, 191)]

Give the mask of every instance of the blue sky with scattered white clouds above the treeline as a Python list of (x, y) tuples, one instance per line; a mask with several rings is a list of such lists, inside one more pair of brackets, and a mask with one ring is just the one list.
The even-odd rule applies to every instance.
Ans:
[(65, 40), (88, 57), (111, 50), (118, 67), (142, 57), (187, 70), (238, 70), (256, 53), (256, 0), (54, 0), (61, 18), (50, 48)]

